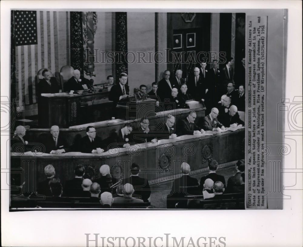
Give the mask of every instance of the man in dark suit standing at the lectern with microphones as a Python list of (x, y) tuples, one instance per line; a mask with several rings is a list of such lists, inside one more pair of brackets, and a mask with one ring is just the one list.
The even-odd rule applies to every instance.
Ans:
[(114, 102), (115, 107), (120, 100), (129, 97), (129, 87), (126, 83), (127, 74), (121, 73), (119, 76), (119, 83), (113, 85), (109, 92), (108, 99)]

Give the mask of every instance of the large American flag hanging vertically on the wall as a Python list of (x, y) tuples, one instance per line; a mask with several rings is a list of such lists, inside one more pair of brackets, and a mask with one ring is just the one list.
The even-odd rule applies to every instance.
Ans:
[(41, 68), (50, 69), (55, 76), (70, 63), (69, 16), (63, 11), (13, 11), (15, 95), (19, 102), (36, 103), (35, 76)]

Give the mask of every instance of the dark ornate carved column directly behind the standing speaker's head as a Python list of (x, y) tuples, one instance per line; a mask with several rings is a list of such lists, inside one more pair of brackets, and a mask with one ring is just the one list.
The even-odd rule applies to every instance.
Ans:
[[(127, 53), (127, 13), (116, 12), (116, 45), (115, 51)], [(118, 81), (121, 73), (128, 73), (128, 65), (125, 61), (125, 56), (117, 54), (115, 57), (116, 66), (116, 81)]]

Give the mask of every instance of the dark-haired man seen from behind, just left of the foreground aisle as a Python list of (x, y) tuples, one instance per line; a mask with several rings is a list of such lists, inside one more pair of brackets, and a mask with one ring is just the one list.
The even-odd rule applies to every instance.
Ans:
[(123, 185), (131, 184), (134, 187), (133, 195), (142, 199), (144, 202), (148, 202), (148, 198), (151, 195), (151, 189), (149, 187), (148, 180), (146, 178), (139, 177), (140, 167), (136, 163), (132, 163), (131, 176), (123, 180)]

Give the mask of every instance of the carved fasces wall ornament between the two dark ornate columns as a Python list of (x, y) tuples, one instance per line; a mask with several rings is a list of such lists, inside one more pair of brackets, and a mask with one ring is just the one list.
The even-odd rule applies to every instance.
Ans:
[[(82, 12), (82, 29), (83, 29), (83, 60), (84, 72), (90, 77), (96, 76), (94, 65), (94, 37), (97, 30), (97, 14), (96, 12)], [(88, 56), (92, 55), (92, 56)]]

